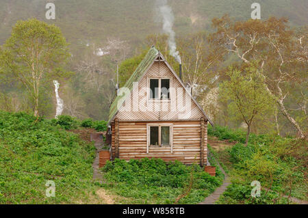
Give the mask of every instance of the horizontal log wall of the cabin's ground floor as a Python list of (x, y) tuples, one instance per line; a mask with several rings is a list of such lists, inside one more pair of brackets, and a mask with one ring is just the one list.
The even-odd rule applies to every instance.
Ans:
[[(172, 124), (172, 152), (171, 146), (149, 146), (147, 148), (147, 128), (146, 124)], [(207, 146), (203, 146), (201, 152), (201, 120), (188, 121), (163, 121), (163, 122), (125, 122), (119, 121), (118, 124), (118, 156), (116, 156), (115, 146), (115, 128), (112, 123), (112, 160), (115, 158), (124, 159), (142, 159), (142, 158), (160, 158), (164, 161), (181, 161), (185, 164), (207, 163)], [(204, 141), (207, 145), (207, 122), (203, 128)], [(203, 157), (203, 161), (201, 161)]]

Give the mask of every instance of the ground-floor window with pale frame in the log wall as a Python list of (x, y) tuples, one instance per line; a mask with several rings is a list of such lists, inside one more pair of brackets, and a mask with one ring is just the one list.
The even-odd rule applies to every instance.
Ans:
[(170, 146), (170, 151), (172, 152), (172, 124), (148, 124), (147, 127), (148, 142), (146, 152), (149, 153), (149, 146)]

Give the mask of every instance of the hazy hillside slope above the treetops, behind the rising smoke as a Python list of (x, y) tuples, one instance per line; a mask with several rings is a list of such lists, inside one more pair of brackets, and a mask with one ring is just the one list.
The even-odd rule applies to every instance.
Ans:
[[(8, 38), (12, 25), (20, 19), (45, 18), (47, 0), (1, 0), (0, 43)], [(54, 0), (56, 19), (64, 36), (75, 48), (77, 44), (99, 42), (108, 37), (119, 37), (138, 44), (149, 33), (161, 32), (161, 24), (155, 22), (153, 0)], [(175, 14), (175, 31), (178, 34), (209, 29), (211, 19), (223, 14), (248, 19), (253, 0), (170, 0)], [(308, 2), (305, 0), (263, 0), (261, 18), (286, 16), (293, 25), (307, 23)]]

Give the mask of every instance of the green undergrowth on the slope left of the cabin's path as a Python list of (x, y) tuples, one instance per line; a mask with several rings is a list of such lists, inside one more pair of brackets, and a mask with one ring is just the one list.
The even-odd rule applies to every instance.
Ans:
[(0, 111), (0, 156), (0, 204), (75, 203), (94, 190), (94, 146), (49, 120)]

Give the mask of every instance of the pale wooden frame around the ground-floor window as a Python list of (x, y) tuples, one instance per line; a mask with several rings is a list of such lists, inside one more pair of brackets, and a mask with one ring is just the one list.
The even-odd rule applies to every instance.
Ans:
[[(150, 127), (151, 126), (158, 126), (158, 146), (152, 146), (150, 145), (151, 142), (151, 131), (150, 131)], [(170, 145), (168, 146), (161, 146), (162, 145), (162, 137), (161, 137), (161, 127), (162, 126), (168, 126), (170, 128), (170, 132), (169, 132), (169, 141), (170, 141)], [(149, 148), (153, 147), (153, 148), (169, 148), (170, 147), (170, 152), (173, 153), (173, 124), (170, 123), (153, 123), (153, 124), (146, 124), (146, 154), (149, 154)]]

